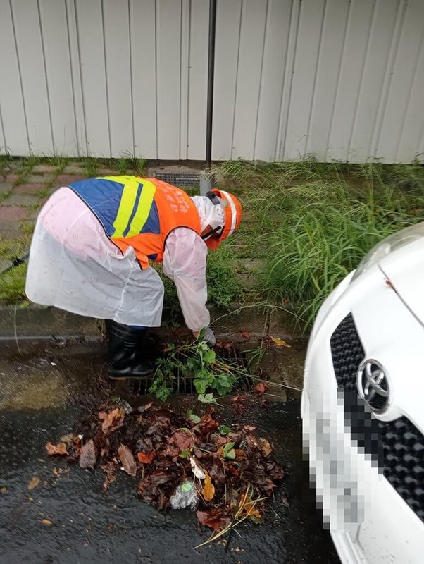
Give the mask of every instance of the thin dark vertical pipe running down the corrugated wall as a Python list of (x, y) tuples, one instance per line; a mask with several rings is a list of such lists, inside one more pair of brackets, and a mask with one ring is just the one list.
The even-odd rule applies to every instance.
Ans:
[(215, 75), (216, 0), (209, 0), (209, 46), (208, 46), (208, 101), (206, 107), (206, 163), (200, 175), (200, 194), (212, 188), (210, 169), (212, 164), (212, 120), (213, 120), (213, 78)]

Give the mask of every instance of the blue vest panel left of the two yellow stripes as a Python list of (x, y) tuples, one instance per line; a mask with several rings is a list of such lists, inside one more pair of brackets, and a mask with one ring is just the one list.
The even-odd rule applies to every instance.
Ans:
[(115, 231), (113, 222), (118, 213), (123, 184), (103, 178), (88, 178), (70, 184), (69, 187), (92, 209), (107, 235), (111, 237)]

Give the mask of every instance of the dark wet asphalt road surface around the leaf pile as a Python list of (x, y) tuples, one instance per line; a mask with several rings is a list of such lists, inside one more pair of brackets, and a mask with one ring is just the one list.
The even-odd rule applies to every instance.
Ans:
[[(189, 408), (194, 399), (180, 396), (177, 403)], [(315, 510), (301, 496), (298, 400), (242, 416), (273, 441), (286, 476), (266, 522), (241, 525), (227, 552), (223, 544), (194, 548), (208, 538), (194, 513), (159, 513), (137, 498), (135, 481), (123, 472), (103, 494), (100, 470), (46, 456), (46, 442), (68, 433), (86, 411), (87, 405), (0, 411), (1, 564), (339, 563)], [(232, 422), (230, 410), (223, 408), (221, 415)], [(30, 491), (35, 476), (40, 482)]]

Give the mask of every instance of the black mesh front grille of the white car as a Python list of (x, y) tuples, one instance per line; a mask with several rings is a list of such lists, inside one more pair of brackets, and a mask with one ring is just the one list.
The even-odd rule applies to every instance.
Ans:
[(378, 460), (385, 478), (424, 521), (424, 436), (407, 417), (380, 421), (359, 398), (356, 378), (365, 357), (354, 317), (347, 315), (332, 333), (332, 364), (352, 440)]

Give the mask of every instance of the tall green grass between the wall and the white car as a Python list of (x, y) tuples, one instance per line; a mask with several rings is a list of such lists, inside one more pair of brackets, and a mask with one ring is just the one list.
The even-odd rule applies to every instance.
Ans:
[(244, 200), (239, 252), (263, 258), (268, 302), (286, 303), (304, 330), (378, 240), (424, 219), (418, 164), (236, 161), (216, 174)]

